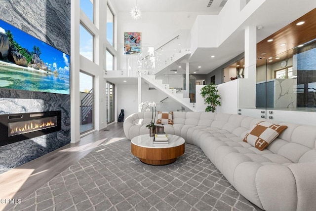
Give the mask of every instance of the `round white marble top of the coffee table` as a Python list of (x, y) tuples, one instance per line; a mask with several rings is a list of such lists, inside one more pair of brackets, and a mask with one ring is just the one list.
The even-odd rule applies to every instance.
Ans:
[(131, 140), (131, 143), (146, 148), (170, 148), (180, 146), (185, 143), (182, 137), (168, 134), (168, 144), (153, 144), (154, 137), (150, 137), (149, 134), (136, 136)]

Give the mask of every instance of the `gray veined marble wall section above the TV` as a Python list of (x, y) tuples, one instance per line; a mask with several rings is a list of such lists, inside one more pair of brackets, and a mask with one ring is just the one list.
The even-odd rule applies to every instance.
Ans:
[(0, 0), (0, 19), (70, 55), (70, 0)]

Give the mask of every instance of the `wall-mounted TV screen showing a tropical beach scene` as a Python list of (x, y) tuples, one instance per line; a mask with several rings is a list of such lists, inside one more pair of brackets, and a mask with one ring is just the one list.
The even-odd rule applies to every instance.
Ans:
[(70, 94), (70, 57), (0, 20), (0, 88)]

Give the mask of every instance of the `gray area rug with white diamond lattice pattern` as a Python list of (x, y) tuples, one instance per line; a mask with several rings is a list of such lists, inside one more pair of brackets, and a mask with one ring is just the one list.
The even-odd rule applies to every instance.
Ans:
[(197, 146), (166, 166), (143, 164), (130, 141), (103, 143), (14, 211), (255, 211)]

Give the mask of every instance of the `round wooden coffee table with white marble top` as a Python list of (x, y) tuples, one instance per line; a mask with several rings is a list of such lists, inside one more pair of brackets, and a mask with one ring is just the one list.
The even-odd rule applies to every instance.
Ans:
[(131, 140), (131, 152), (143, 163), (150, 165), (167, 165), (176, 161), (184, 153), (184, 139), (168, 135), (168, 144), (153, 144), (154, 137), (136, 136)]

